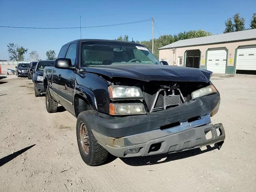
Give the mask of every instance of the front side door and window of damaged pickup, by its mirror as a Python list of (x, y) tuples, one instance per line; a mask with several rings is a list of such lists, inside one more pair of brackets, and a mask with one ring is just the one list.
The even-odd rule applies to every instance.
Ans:
[[(70, 44), (65, 58), (69, 58), (74, 66), (76, 63), (76, 43)], [(71, 113), (74, 111), (73, 97), (74, 97), (74, 82), (75, 82), (75, 71), (69, 69), (58, 69), (58, 90), (60, 103), (64, 108), (69, 110)]]

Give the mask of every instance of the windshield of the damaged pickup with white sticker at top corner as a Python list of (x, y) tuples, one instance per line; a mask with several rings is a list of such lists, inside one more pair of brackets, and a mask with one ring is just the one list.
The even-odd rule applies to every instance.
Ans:
[(82, 66), (160, 64), (144, 46), (124, 42), (82, 42)]

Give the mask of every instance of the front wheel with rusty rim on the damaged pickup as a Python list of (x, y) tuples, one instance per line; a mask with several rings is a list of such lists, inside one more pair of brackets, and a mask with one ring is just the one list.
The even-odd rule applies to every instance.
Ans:
[(107, 160), (108, 151), (97, 142), (92, 134), (91, 125), (87, 120), (88, 115), (98, 116), (98, 113), (94, 110), (88, 110), (78, 115), (76, 138), (82, 160), (89, 166), (96, 166)]

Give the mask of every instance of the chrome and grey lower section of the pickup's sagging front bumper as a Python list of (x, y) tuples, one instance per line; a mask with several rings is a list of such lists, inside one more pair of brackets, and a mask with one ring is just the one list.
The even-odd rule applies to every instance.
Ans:
[[(92, 132), (98, 143), (117, 157), (148, 156), (179, 152), (210, 144), (218, 144), (218, 148), (220, 149), (225, 139), (225, 131), (222, 124), (196, 126), (197, 124), (195, 122), (194, 125), (188, 123), (184, 127), (176, 126), (164, 130), (152, 130), (122, 138), (111, 138), (94, 130)], [(196, 127), (190, 128), (191, 126)], [(208, 132), (211, 132), (212, 138), (206, 139)]]

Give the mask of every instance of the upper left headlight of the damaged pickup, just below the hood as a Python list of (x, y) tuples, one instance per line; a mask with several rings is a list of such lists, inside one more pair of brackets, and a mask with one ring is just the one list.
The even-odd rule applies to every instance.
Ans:
[(129, 87), (129, 86), (109, 86), (108, 92), (110, 99), (112, 100), (124, 100), (124, 99), (142, 99), (143, 94), (140, 88), (138, 87)]

